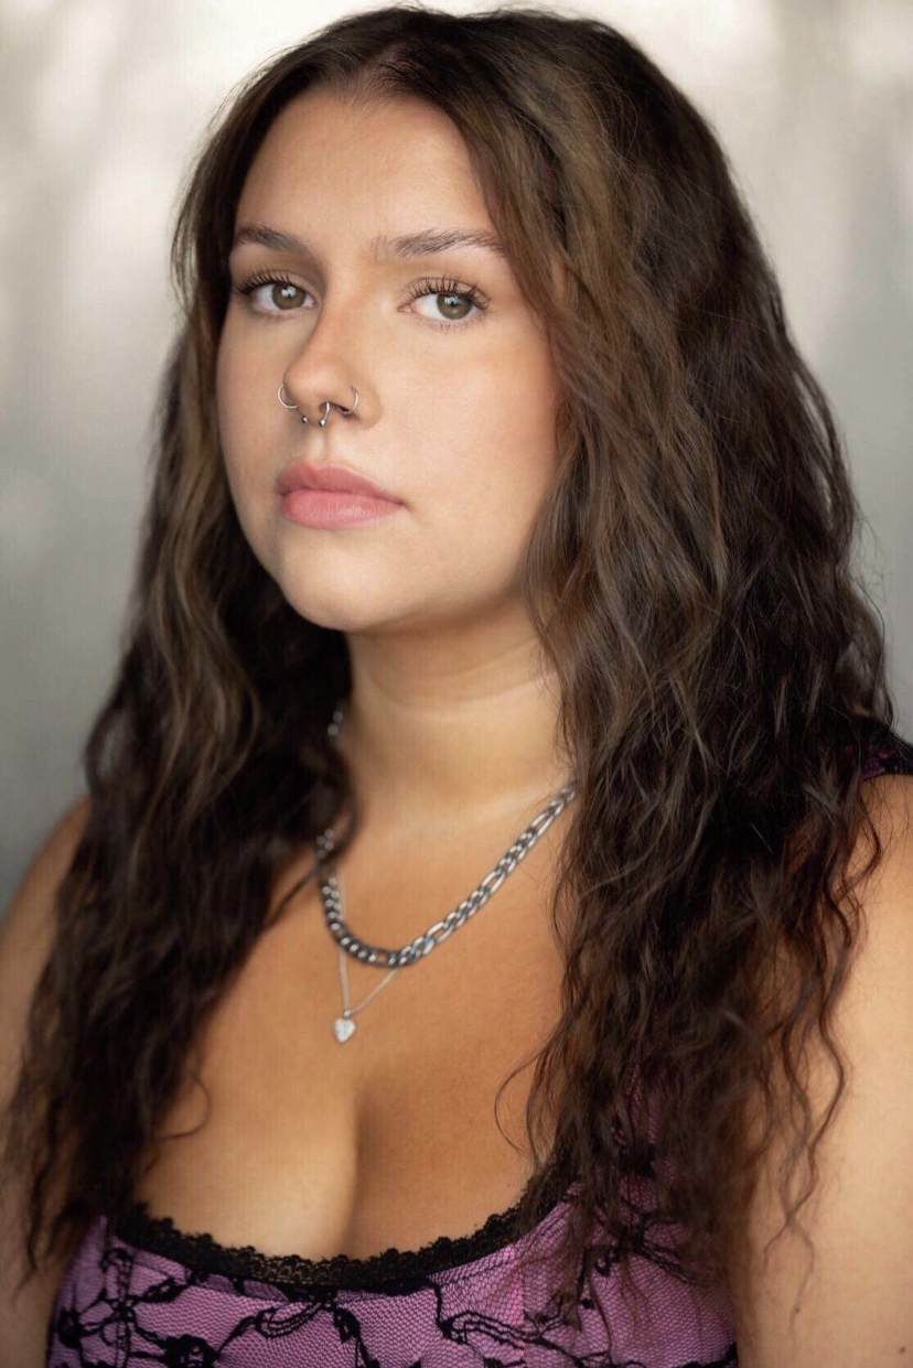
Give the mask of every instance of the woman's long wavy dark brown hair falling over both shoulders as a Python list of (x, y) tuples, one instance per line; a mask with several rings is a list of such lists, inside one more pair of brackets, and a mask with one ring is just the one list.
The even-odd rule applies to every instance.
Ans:
[[(344, 810), (349, 839), (357, 822), (326, 737), (350, 688), (345, 636), (300, 617), (255, 558), (214, 402), (245, 174), (315, 86), (419, 97), (453, 120), (558, 378), (557, 473), (523, 595), (579, 788), (554, 884), (563, 1011), (535, 1064), (519, 1226), (574, 1189), (568, 1291), (579, 1267), (634, 1252), (725, 1282), (775, 1127), (791, 1127), (791, 1224), (843, 1086), (832, 1015), (864, 826), (866, 869), (882, 854), (858, 717), (894, 721), (880, 616), (853, 568), (861, 514), (689, 100), (594, 18), (411, 4), (270, 60), (189, 179), (185, 321), (123, 653), (85, 750), (89, 815), (8, 1118), (30, 1267), (129, 1209), (277, 873)], [(823, 1109), (803, 1073), (821, 1041), (836, 1070)]]

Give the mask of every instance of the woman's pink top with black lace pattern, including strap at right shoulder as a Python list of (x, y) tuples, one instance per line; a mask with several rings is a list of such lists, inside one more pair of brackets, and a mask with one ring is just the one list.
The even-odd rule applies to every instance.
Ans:
[[(869, 748), (866, 774), (913, 774), (895, 733)], [(732, 1309), (657, 1261), (632, 1260), (643, 1309), (632, 1316), (610, 1261), (595, 1285), (610, 1347), (586, 1285), (580, 1328), (561, 1315), (548, 1264), (567, 1194), (516, 1237), (513, 1216), (471, 1235), (374, 1259), (309, 1261), (226, 1249), (144, 1207), (116, 1230), (90, 1226), (57, 1289), (48, 1368), (710, 1368), (736, 1364)], [(541, 1244), (539, 1244), (541, 1242)]]

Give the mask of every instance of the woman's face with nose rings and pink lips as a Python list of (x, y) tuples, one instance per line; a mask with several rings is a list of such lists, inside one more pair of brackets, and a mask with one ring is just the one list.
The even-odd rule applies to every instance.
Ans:
[[(519, 605), (556, 465), (543, 326), (497, 248), (376, 242), (457, 228), (496, 237), (461, 135), (417, 100), (308, 92), (244, 185), (218, 358), (222, 449), (255, 554), (323, 627), (439, 629)], [(297, 410), (279, 404), (281, 383)], [(315, 525), (329, 497), (283, 491), (329, 466), (397, 502)]]

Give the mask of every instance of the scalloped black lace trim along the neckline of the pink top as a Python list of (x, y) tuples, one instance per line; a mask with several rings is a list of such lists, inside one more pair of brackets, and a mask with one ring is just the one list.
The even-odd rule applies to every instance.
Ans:
[(334, 1254), (331, 1259), (303, 1259), (300, 1254), (266, 1254), (253, 1245), (226, 1246), (209, 1234), (186, 1234), (170, 1216), (151, 1216), (148, 1202), (137, 1202), (111, 1223), (111, 1231), (134, 1249), (171, 1259), (196, 1272), (222, 1274), (233, 1280), (270, 1283), (286, 1294), (313, 1289), (350, 1291), (383, 1290), (408, 1293), (427, 1282), (431, 1274), (459, 1268), (486, 1254), (497, 1253), (538, 1227), (561, 1204), (565, 1193), (557, 1171), (550, 1170), (542, 1200), (534, 1213), (534, 1227), (520, 1228), (517, 1215), (531, 1185), (506, 1211), (494, 1212), (470, 1235), (439, 1235), (420, 1249), (390, 1246), (367, 1259)]

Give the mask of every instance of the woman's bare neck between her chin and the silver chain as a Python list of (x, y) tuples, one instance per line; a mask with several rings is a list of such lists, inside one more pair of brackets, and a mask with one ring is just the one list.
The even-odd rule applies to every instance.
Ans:
[(427, 830), (534, 815), (568, 782), (557, 679), (542, 670), (531, 629), (348, 643), (352, 695), (338, 744), (365, 819)]

